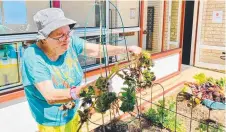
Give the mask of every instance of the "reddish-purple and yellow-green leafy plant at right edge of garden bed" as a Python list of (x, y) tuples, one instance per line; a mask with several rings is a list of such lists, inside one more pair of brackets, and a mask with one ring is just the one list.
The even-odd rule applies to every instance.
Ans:
[(204, 73), (199, 73), (194, 76), (196, 80), (193, 82), (186, 82), (184, 92), (192, 94), (192, 100), (196, 104), (200, 104), (202, 100), (209, 99), (215, 102), (225, 103), (225, 84), (226, 78), (214, 79), (207, 77)]

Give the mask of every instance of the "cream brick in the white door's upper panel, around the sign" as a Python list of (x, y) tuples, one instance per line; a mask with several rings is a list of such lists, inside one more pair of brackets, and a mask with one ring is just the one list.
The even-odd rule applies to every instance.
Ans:
[[(213, 11), (223, 11), (222, 23), (212, 22)], [(202, 16), (202, 44), (212, 46), (225, 46), (225, 1), (205, 1)]]

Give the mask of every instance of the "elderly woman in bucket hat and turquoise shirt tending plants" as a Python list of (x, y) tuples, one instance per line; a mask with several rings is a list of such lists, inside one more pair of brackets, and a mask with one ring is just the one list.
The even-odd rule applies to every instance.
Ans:
[[(24, 52), (22, 77), (32, 116), (41, 132), (75, 132), (83, 71), (78, 55), (99, 57), (99, 46), (71, 35), (76, 22), (64, 16), (61, 9), (48, 8), (37, 12), (34, 21), (38, 27), (38, 41)], [(86, 49), (84, 49), (86, 45)], [(126, 52), (125, 47), (107, 45), (108, 55)], [(141, 48), (128, 47), (140, 54)], [(72, 86), (76, 86), (72, 88)], [(65, 113), (62, 103), (74, 101), (76, 106)]]

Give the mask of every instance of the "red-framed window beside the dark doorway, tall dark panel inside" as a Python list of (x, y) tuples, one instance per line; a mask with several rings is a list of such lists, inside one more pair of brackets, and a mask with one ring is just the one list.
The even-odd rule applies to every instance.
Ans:
[(181, 5), (182, 1), (148, 1), (145, 46), (151, 53), (179, 48)]

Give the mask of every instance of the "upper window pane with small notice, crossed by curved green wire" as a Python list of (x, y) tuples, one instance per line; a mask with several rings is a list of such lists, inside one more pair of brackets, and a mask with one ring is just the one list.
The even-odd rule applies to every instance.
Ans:
[(110, 0), (109, 8), (110, 28), (122, 28), (122, 21), (124, 27), (139, 26), (139, 1)]

